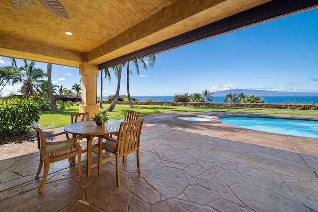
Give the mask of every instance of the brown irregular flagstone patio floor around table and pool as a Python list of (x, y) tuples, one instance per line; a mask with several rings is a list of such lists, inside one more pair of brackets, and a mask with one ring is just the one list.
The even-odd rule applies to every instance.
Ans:
[[(95, 167), (87, 177), (83, 153), (81, 178), (77, 165), (70, 166), (68, 160), (51, 163), (39, 194), (43, 170), (36, 179), (40, 156), (35, 138), (4, 141), (0, 145), (0, 212), (318, 211), (318, 139), (220, 123), (217, 117), (225, 114), (238, 115), (142, 117), (141, 173), (135, 153), (128, 155), (126, 163), (120, 159), (120, 187), (114, 160), (102, 165), (101, 175)], [(177, 119), (180, 115), (212, 120)], [(56, 133), (63, 128), (45, 131)], [(97, 161), (97, 155), (93, 157)]]

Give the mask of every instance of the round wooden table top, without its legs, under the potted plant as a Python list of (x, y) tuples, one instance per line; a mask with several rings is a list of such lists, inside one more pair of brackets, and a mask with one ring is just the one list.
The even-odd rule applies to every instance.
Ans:
[(111, 119), (104, 127), (98, 126), (95, 121), (75, 122), (64, 127), (64, 131), (77, 135), (105, 135), (119, 131), (120, 123), (123, 120)]

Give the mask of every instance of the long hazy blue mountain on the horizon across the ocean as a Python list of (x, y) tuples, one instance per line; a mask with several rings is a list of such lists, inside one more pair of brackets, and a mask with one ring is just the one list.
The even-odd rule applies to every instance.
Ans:
[(222, 90), (213, 92), (213, 96), (225, 96), (229, 93), (241, 93), (245, 95), (256, 95), (256, 96), (318, 96), (318, 93), (310, 92), (279, 92), (279, 91), (268, 91), (268, 90), (248, 90), (248, 89), (233, 89), (233, 90)]

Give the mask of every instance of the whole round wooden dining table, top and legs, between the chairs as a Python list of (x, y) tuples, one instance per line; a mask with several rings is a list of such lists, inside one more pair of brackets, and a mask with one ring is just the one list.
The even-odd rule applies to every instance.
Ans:
[(93, 167), (98, 166), (98, 163), (92, 164), (91, 161), (91, 152), (92, 152), (92, 140), (96, 136), (106, 135), (106, 134), (113, 134), (118, 133), (120, 123), (124, 120), (115, 120), (111, 119), (108, 120), (108, 123), (102, 127), (98, 126), (94, 121), (83, 121), (83, 122), (75, 122), (69, 124), (64, 127), (64, 131), (68, 132), (73, 135), (80, 135), (86, 138), (87, 140), (87, 148), (86, 148), (86, 171), (87, 176), (91, 175), (91, 169)]

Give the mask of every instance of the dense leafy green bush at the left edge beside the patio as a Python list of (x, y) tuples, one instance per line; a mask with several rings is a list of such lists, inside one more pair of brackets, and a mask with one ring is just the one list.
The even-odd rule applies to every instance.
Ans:
[(39, 121), (40, 107), (33, 100), (7, 98), (0, 101), (0, 137), (29, 132), (32, 122)]

